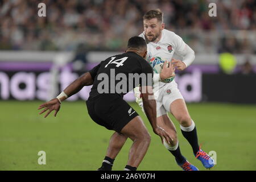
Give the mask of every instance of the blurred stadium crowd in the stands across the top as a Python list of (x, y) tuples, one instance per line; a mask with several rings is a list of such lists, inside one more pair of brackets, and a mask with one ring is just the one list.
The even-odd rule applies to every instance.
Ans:
[[(38, 16), (40, 2), (46, 17)], [(208, 15), (210, 2), (217, 17)], [(255, 0), (0, 0), (0, 49), (123, 51), (156, 8), (197, 53), (256, 53)]]

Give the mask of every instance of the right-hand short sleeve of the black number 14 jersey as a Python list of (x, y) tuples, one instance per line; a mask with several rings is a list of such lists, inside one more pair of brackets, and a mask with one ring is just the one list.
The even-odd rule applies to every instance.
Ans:
[(146, 74), (146, 81), (141, 80), (141, 86), (153, 86), (153, 69), (146, 60), (142, 61), (142, 73)]

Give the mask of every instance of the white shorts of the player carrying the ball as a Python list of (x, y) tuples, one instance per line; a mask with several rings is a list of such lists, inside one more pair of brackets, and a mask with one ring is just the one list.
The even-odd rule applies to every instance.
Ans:
[[(134, 89), (136, 102), (139, 106), (141, 106), (142, 111), (144, 112), (142, 99), (138, 98), (138, 91), (138, 89)], [(177, 83), (175, 82), (175, 80), (164, 85), (159, 90), (154, 90), (154, 96), (156, 100), (156, 117), (160, 117), (161, 115), (170, 112), (170, 106), (175, 100), (184, 100), (183, 96), (180, 93), (180, 90), (177, 88)]]

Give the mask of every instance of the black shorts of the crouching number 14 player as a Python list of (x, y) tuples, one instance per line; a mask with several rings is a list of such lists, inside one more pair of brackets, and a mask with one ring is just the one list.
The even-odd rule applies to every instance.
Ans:
[(102, 94), (86, 101), (90, 117), (108, 130), (121, 132), (138, 113), (117, 94)]

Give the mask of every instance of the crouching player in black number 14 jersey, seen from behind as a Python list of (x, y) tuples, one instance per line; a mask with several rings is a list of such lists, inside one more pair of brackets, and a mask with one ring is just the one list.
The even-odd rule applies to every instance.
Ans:
[[(153, 71), (144, 60), (146, 55), (145, 40), (139, 36), (130, 38), (125, 53), (101, 61), (92, 70), (77, 78), (59, 96), (40, 105), (38, 109), (44, 109), (39, 114), (48, 111), (44, 116), (47, 117), (51, 111), (55, 110), (56, 117), (62, 101), (79, 92), (84, 86), (93, 85), (86, 101), (90, 117), (98, 125), (115, 131), (110, 140), (117, 136), (119, 138), (123, 136), (125, 140), (127, 137), (133, 140), (125, 170), (136, 170), (150, 144), (150, 134), (141, 117), (123, 100), (123, 95), (140, 84), (144, 111), (154, 133), (159, 135), (162, 141), (166, 139), (170, 143), (172, 140), (166, 131), (156, 125), (156, 102), (152, 92)], [(172, 64), (168, 67), (166, 61), (161, 77), (168, 78), (173, 73), (174, 67)], [(110, 152), (112, 151), (107, 151), (104, 159), (106, 165), (102, 165), (98, 170), (112, 169), (113, 160), (108, 157)]]

